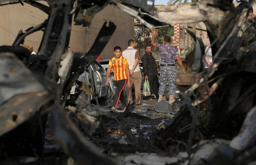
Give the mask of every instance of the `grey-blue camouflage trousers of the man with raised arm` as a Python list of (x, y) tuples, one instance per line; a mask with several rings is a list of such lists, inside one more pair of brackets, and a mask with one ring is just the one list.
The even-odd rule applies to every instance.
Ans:
[(175, 95), (176, 91), (176, 76), (177, 72), (175, 66), (161, 66), (159, 77), (159, 92), (158, 94), (164, 95), (166, 83), (169, 83), (169, 95)]

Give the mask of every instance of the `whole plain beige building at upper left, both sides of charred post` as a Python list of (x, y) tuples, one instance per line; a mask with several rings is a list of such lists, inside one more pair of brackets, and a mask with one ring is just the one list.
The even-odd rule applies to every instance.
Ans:
[[(39, 1), (45, 3), (45, 1)], [(47, 5), (47, 4), (46, 4)], [(41, 10), (24, 3), (0, 6), (0, 46), (11, 45), (20, 29), (26, 29), (41, 24), (48, 18)], [(103, 59), (113, 57), (113, 48), (121, 46), (128, 47), (128, 40), (134, 39), (134, 17), (126, 14), (115, 6), (108, 5), (98, 12), (91, 22), (90, 27), (74, 26), (72, 24), (69, 46), (73, 51), (86, 53), (95, 41), (104, 21), (111, 21), (117, 26), (108, 44), (100, 54)], [(33, 46), (37, 52), (43, 32), (35, 32), (24, 40), (24, 45)]]

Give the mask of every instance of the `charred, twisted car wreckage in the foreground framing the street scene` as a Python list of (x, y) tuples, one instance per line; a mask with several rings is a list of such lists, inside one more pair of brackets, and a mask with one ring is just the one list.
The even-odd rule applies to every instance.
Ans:
[[(0, 5), (28, 3), (49, 15), (42, 24), (26, 30), (25, 33), (20, 31), (12, 46), (0, 47), (2, 164), (7, 158), (19, 156), (33, 156), (41, 164), (46, 162), (43, 144), (48, 113), (51, 114), (51, 136), (65, 153), (64, 158), (67, 161), (75, 164), (117, 164), (117, 161), (87, 141), (85, 135), (65, 113), (65, 98), (72, 84), (95, 61), (115, 31), (113, 22), (105, 22), (93, 46), (85, 55), (70, 52), (69, 56), (65, 56), (72, 15), (75, 15), (76, 24), (89, 26), (93, 16), (108, 4), (134, 16), (148, 28), (202, 21), (207, 26), (212, 44), (214, 63), (207, 71), (203, 71), (202, 43), (194, 37), (195, 49), (185, 61), (186, 72), (179, 74), (176, 79), (181, 91), (181, 101), (173, 122), (166, 129), (156, 132), (156, 138), (152, 141), (135, 140), (128, 134), (132, 146), (137, 146), (139, 152), (159, 152), (162, 156), (173, 156), (179, 150), (184, 150), (188, 156), (173, 162), (182, 164), (186, 160), (193, 163), (191, 159), (201, 141), (228, 139), (230, 143), (220, 145), (208, 159), (194, 163), (255, 163), (256, 24), (255, 20), (247, 19), (250, 6), (239, 10), (234, 7), (232, 0), (205, 0), (157, 9), (154, 8), (153, 0), (47, 2), (50, 7), (32, 0), (0, 0)], [(250, 0), (249, 4), (252, 3), (255, 1)], [(19, 45), (27, 35), (42, 29), (44, 35), (39, 51), (37, 55), (30, 56), (30, 52)], [(71, 58), (68, 59), (69, 64), (61, 66), (61, 62), (67, 58)], [(63, 72), (60, 72), (61, 68), (64, 69)], [(71, 72), (75, 74), (70, 74)], [(59, 78), (61, 84), (57, 85)], [(90, 105), (85, 108), (88, 114), (94, 111), (98, 117), (109, 115), (104, 108)], [(129, 105), (126, 112), (114, 119), (121, 121), (132, 108), (133, 105)], [(102, 136), (105, 136), (105, 127), (100, 124), (102, 119), (93, 120), (96, 123), (95, 129), (101, 125)], [(91, 127), (93, 126), (85, 130), (87, 136), (95, 132)], [(110, 138), (106, 139), (111, 142)], [(169, 145), (174, 149), (168, 148)], [(196, 147), (192, 147), (193, 145)]]

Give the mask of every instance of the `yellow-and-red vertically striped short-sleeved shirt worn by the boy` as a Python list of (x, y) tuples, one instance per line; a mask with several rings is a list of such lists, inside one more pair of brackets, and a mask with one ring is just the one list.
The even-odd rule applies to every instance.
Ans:
[(119, 81), (122, 79), (127, 79), (125, 68), (129, 67), (129, 64), (124, 57), (120, 57), (118, 60), (113, 57), (109, 60), (108, 68), (112, 68), (114, 72), (114, 80)]

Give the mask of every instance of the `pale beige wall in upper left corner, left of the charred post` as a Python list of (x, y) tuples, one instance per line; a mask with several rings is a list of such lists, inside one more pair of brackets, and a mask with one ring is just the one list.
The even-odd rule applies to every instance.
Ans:
[[(26, 3), (24, 6), (0, 6), (0, 46), (12, 45), (20, 29), (25, 32), (26, 29), (44, 22), (47, 17), (44, 12)], [(33, 46), (33, 50), (37, 52), (42, 37), (42, 31), (35, 32), (25, 38), (24, 45)]]

